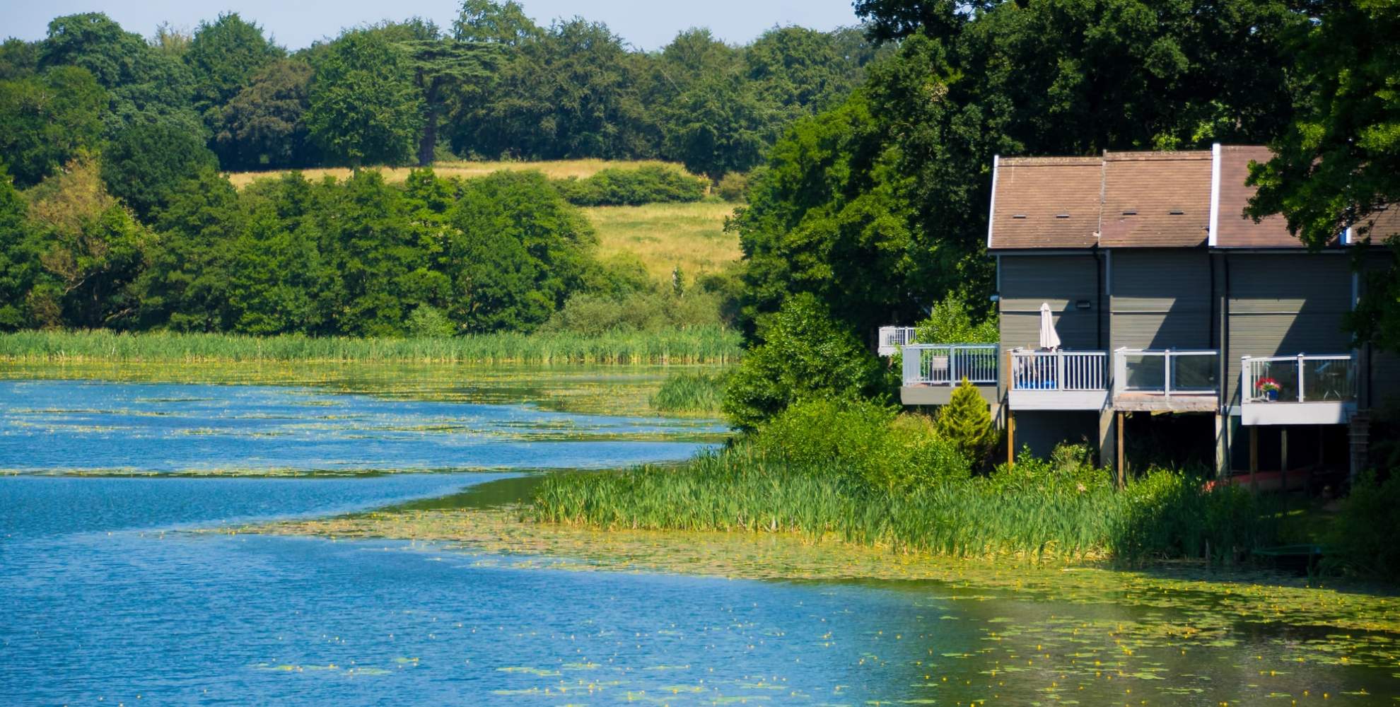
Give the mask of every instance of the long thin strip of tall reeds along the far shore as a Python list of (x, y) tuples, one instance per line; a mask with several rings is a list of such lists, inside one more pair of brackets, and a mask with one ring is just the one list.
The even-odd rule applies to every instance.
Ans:
[(739, 336), (718, 326), (584, 336), (491, 333), (430, 339), (301, 335), (15, 332), (0, 335), (11, 361), (361, 361), (361, 363), (729, 363)]

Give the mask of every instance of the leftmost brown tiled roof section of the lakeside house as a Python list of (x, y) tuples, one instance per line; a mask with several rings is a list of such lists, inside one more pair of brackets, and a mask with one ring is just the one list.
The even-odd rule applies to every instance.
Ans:
[(1098, 157), (997, 161), (988, 248), (1091, 248), (1098, 242)]

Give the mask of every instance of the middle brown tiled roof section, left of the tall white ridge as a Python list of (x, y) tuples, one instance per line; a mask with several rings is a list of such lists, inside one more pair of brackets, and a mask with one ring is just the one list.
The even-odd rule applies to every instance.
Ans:
[(1205, 245), (1211, 220), (1211, 153), (1105, 153), (1105, 248)]

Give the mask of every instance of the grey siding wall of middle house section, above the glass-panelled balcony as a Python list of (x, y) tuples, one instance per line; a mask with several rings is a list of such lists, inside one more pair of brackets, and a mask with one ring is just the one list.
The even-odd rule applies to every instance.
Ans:
[(1109, 349), (1210, 349), (1211, 265), (1204, 249), (1117, 249)]

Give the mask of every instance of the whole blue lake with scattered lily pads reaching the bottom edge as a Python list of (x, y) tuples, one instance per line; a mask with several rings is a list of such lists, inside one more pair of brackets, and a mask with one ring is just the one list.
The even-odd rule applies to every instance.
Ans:
[(3, 701), (1204, 706), (1400, 694), (1389, 626), (1336, 636), (1225, 616), (1204, 637), (1182, 630), (1198, 615), (1179, 605), (1208, 606), (1210, 594), (1148, 602), (1106, 589), (1084, 601), (967, 582), (571, 571), (421, 542), (199, 532), (444, 497), (535, 469), (676, 461), (721, 430), (529, 395), (444, 395), (472, 377), (454, 375), (412, 395), (336, 377), (0, 381)]

